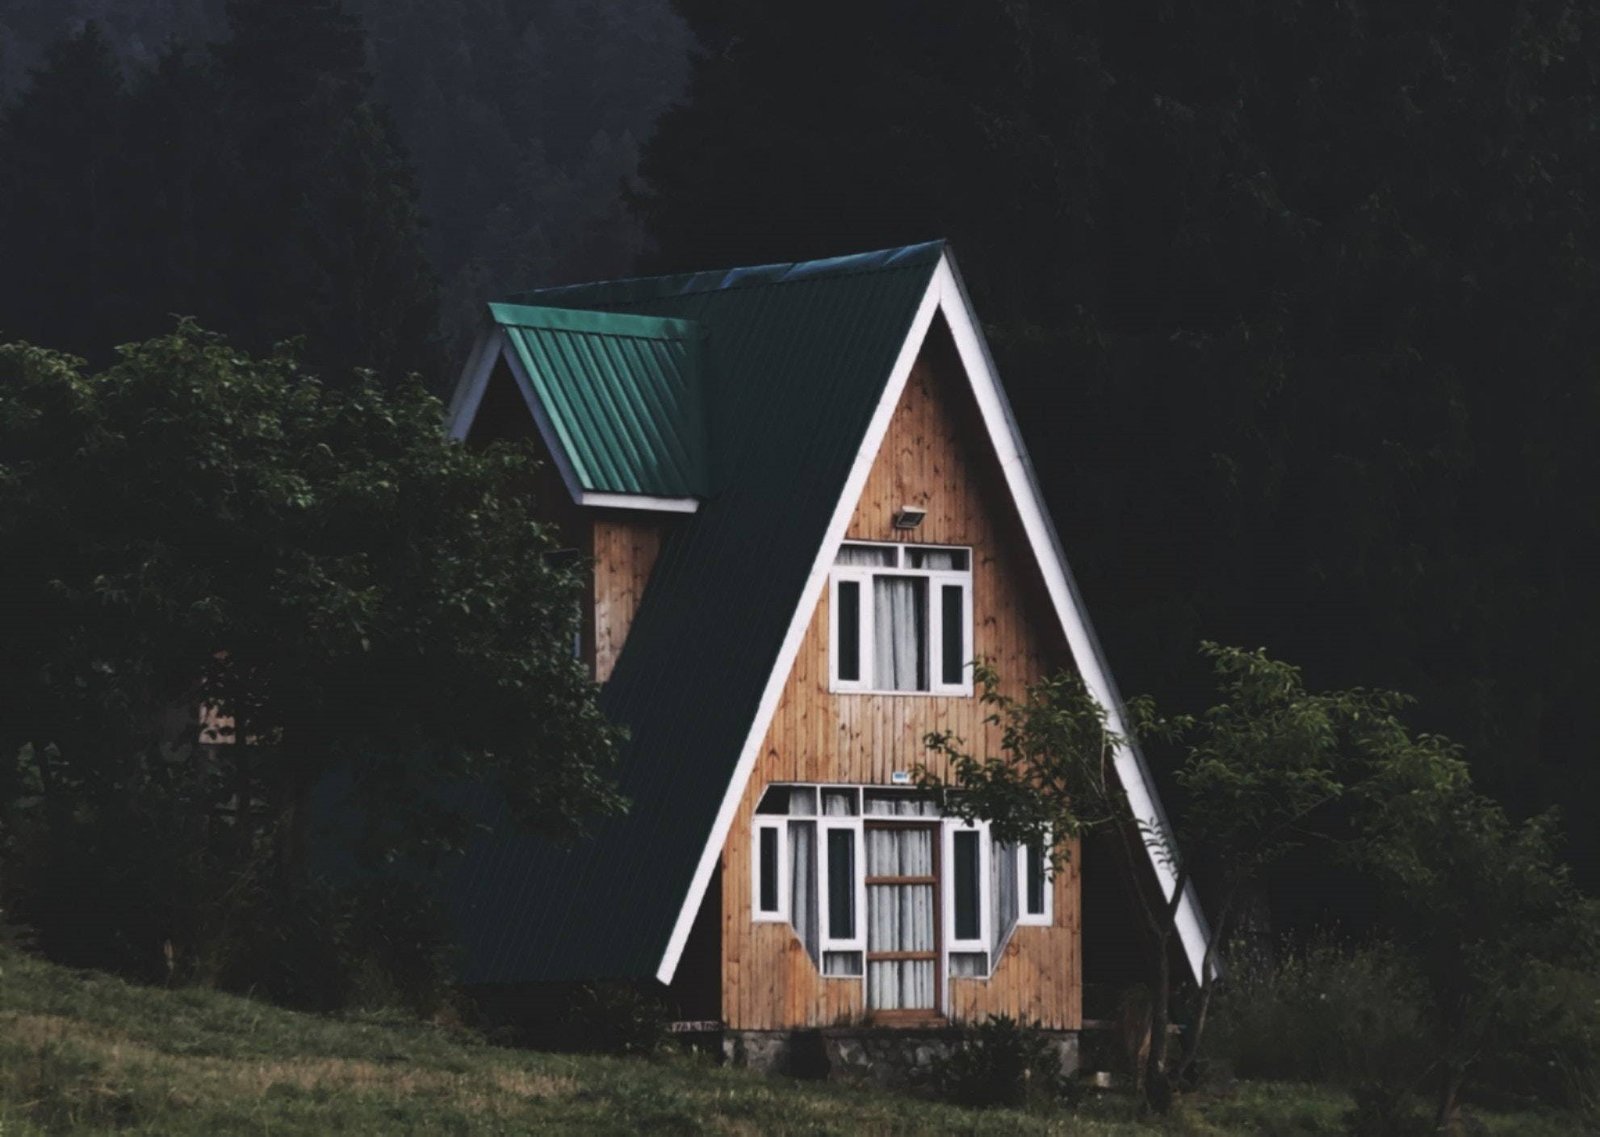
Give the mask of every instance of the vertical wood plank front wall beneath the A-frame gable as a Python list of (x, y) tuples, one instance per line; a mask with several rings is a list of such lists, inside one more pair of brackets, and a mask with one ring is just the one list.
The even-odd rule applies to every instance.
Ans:
[[(974, 652), (992, 659), (1006, 688), (1019, 692), (1067, 656), (955, 366), (923, 349), (848, 536), (971, 545)], [(928, 515), (917, 529), (896, 531), (891, 518), (901, 505), (920, 505)], [(830, 694), (827, 640), (824, 590), (723, 848), (723, 1020), (734, 1028), (827, 1027), (866, 1012), (859, 979), (822, 979), (789, 924), (750, 921), (750, 822), (762, 790), (786, 780), (888, 785), (893, 771), (931, 763), (923, 736), (934, 729), (954, 729), (973, 745), (984, 739), (987, 753), (998, 745), (976, 697)], [(1074, 867), (1054, 881), (1054, 924), (1018, 928), (989, 979), (952, 979), (947, 1012), (954, 1019), (1003, 1012), (1077, 1030), (1080, 991), (1074, 856)]]

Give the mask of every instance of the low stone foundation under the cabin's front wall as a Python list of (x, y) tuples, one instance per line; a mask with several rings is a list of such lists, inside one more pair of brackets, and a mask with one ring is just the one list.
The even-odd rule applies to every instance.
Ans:
[[(1061, 1073), (1078, 1070), (1077, 1031), (1043, 1031), (1061, 1059)], [(728, 1065), (792, 1078), (830, 1078), (878, 1086), (915, 1086), (938, 1059), (962, 1046), (963, 1031), (830, 1027), (826, 1030), (728, 1030), (722, 1054)]]

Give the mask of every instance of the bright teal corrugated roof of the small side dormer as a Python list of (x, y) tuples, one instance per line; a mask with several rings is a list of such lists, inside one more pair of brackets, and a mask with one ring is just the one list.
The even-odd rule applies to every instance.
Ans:
[(690, 320), (490, 304), (581, 493), (704, 497), (710, 457)]

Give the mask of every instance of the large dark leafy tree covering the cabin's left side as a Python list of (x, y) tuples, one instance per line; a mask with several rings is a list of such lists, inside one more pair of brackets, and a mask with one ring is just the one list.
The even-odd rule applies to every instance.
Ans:
[[(67, 889), (46, 947), (101, 932), (125, 969), (163, 940), (237, 948), (234, 900), (293, 908), (341, 803), (347, 856), (422, 867), (470, 835), (464, 787), (554, 836), (621, 808), (528, 454), (440, 421), (414, 381), (323, 385), (192, 323), (99, 373), (0, 349), (0, 808), (13, 849), (27, 820), (38, 856), (118, 897)], [(200, 707), (230, 740), (202, 744)], [(187, 849), (206, 857), (187, 894), (133, 870)]]

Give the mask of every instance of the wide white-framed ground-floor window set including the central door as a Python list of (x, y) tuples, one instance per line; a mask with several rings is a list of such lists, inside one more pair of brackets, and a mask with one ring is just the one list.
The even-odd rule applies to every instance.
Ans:
[(877, 1015), (939, 1014), (952, 977), (987, 979), (1018, 924), (1054, 918), (1042, 849), (914, 790), (771, 785), (752, 838), (752, 918), (787, 921)]

